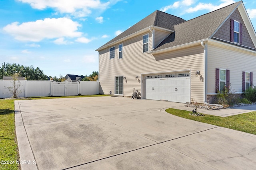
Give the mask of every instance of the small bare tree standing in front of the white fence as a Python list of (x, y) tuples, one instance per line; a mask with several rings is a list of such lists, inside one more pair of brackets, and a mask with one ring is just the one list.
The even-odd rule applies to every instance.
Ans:
[(18, 80), (18, 77), (20, 76), (20, 72), (16, 72), (12, 75), (12, 86), (6, 87), (6, 89), (9, 90), (10, 94), (12, 94), (13, 98), (17, 98), (18, 94), (22, 93), (21, 90), (19, 90), (21, 82)]

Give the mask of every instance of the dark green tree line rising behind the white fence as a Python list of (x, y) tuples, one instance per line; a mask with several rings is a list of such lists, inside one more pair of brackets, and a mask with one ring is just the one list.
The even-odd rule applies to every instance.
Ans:
[[(54, 80), (57, 82), (65, 81), (65, 77), (60, 74), (60, 77), (57, 76), (47, 76), (44, 74), (40, 68), (34, 68), (33, 65), (31, 66), (23, 66), (20, 64), (10, 64), (10, 63), (2, 63), (0, 67), (0, 79), (3, 76), (13, 76), (14, 74), (18, 73), (19, 76), (25, 77), (26, 80)], [(98, 80), (98, 72), (94, 71), (89, 76), (85, 76), (82, 81), (97, 81)]]

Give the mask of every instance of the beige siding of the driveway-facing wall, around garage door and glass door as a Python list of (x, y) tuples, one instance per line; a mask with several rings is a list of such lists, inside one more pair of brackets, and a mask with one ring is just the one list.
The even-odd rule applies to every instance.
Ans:
[[(152, 33), (149, 31), (149, 47), (152, 46)], [(115, 76), (124, 76), (123, 96), (132, 96), (133, 89), (141, 92), (141, 74), (170, 72), (177, 70), (191, 70), (191, 96), (197, 102), (203, 102), (204, 88), (200, 76), (195, 76), (200, 70), (204, 76), (204, 55), (201, 45), (184, 50), (173, 51), (162, 55), (143, 53), (143, 33), (123, 43), (123, 58), (118, 59), (118, 44), (115, 46), (115, 58), (109, 59), (109, 47), (100, 51), (100, 93), (114, 94)], [(139, 76), (139, 79), (136, 79)]]

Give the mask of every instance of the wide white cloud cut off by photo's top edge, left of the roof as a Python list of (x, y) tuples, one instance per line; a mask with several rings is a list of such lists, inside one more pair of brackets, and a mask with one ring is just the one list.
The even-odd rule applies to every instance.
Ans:
[(106, 3), (100, 0), (18, 0), (28, 3), (34, 9), (44, 10), (46, 8), (54, 8), (60, 13), (69, 13), (76, 17), (84, 17), (91, 14), (92, 9), (105, 10), (111, 4), (118, 1), (108, 1)]

